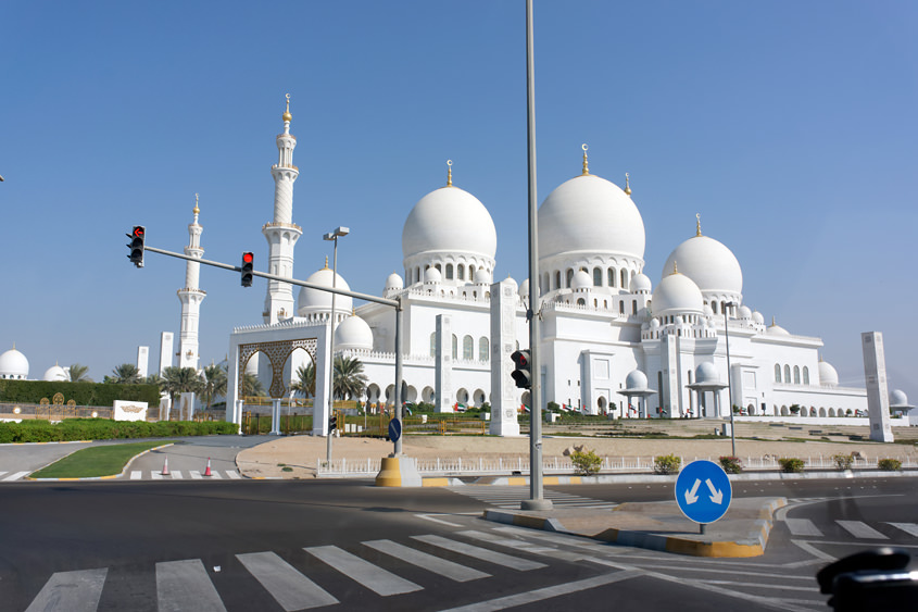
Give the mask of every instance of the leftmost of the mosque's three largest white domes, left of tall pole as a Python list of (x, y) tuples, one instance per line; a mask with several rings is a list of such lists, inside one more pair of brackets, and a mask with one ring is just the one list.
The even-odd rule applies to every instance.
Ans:
[(498, 230), (478, 198), (458, 187), (441, 187), (412, 209), (402, 230), (405, 259), (427, 252), (469, 253), (493, 260)]

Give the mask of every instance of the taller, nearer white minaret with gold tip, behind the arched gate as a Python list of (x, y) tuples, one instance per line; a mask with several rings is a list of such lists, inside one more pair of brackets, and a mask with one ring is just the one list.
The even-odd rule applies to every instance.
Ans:
[[(271, 166), (274, 177), (274, 221), (262, 227), (268, 243), (267, 268), (269, 274), (293, 276), (293, 246), (302, 228), (293, 223), (293, 182), (300, 175), (300, 168), (293, 165), (293, 147), (297, 137), (290, 134), (290, 95), (287, 95), (287, 110), (284, 112), (284, 134), (277, 136), (277, 163)], [(287, 283), (268, 280), (265, 310), (262, 313), (265, 323), (277, 323), (290, 319), (297, 313), (293, 289)]]

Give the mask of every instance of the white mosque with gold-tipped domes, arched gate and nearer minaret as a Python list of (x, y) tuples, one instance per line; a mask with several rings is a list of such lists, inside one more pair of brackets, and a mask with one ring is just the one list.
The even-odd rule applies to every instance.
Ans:
[[(282, 121), (272, 166), (274, 218), (262, 232), (268, 272), (292, 278), (302, 230), (292, 221), (299, 171), (289, 99)], [(528, 397), (508, 383), (508, 354), (528, 346), (529, 282), (494, 282), (493, 221), (482, 202), (453, 185), (451, 170), (447, 184), (407, 214), (403, 273), (381, 282), (381, 297), (402, 304), (402, 400), (439, 411), (486, 402), (518, 409)], [(839, 385), (819, 357), (819, 338), (791, 334), (774, 317), (768, 325), (743, 304), (740, 263), (702, 233), (700, 220), (653, 275), (654, 286), (627, 175), (623, 189), (591, 174), (586, 146), (580, 174), (555, 188), (538, 214), (542, 405), (626, 419), (722, 417), (732, 392), (733, 405), (747, 415), (866, 413), (867, 390)], [(307, 282), (331, 287), (327, 262)], [(334, 283), (350, 290), (340, 274)], [(237, 385), (243, 369), (259, 373), (279, 407), (297, 367), (312, 359), (315, 433), (324, 434), (332, 328), (335, 353), (364, 365), (369, 385), (362, 399), (394, 401), (394, 310), (373, 302), (355, 309), (352, 298), (338, 296), (332, 314), (331, 302), (331, 293), (312, 288), (301, 288), (294, 301), (292, 286), (268, 283), (264, 323), (238, 327), (230, 337), (228, 420), (238, 422), (244, 409)], [(501, 319), (500, 309), (510, 316)], [(892, 395), (891, 403), (906, 404), (904, 394)]]

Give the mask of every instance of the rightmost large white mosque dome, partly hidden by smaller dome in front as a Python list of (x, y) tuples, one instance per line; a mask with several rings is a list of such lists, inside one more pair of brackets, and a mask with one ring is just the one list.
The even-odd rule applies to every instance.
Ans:
[(702, 293), (743, 292), (743, 272), (733, 252), (707, 236), (693, 236), (669, 253), (663, 274), (679, 266), (679, 272), (695, 282)]

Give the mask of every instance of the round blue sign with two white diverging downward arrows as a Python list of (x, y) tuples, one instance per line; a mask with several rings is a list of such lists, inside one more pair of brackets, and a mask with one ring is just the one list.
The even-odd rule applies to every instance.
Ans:
[(732, 499), (727, 473), (713, 461), (692, 461), (676, 478), (679, 510), (695, 523), (714, 523), (724, 516)]

